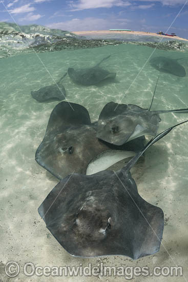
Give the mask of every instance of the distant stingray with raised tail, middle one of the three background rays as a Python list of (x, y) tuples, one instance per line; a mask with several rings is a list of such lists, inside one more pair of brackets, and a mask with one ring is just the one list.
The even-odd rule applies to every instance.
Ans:
[(92, 68), (86, 69), (77, 69), (68, 68), (68, 74), (73, 82), (85, 86), (96, 85), (100, 83), (102, 80), (107, 78), (114, 79), (116, 77), (115, 72), (109, 72), (107, 70), (103, 70), (99, 67), (99, 65), (108, 59), (111, 55), (103, 58), (96, 66)]

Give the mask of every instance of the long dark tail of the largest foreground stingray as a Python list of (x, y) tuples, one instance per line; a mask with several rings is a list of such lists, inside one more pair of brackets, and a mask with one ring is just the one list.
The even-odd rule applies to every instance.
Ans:
[(139, 159), (139, 157), (150, 147), (152, 146), (154, 143), (156, 143), (159, 139), (161, 139), (162, 137), (164, 137), (166, 134), (168, 134), (174, 127), (179, 126), (181, 124), (187, 123), (188, 120), (185, 120), (185, 122), (182, 122), (180, 124), (174, 125), (166, 130), (164, 130), (163, 132), (159, 133), (156, 137), (154, 137), (153, 139), (151, 139), (149, 141), (149, 143), (140, 151), (138, 152), (127, 164), (127, 166), (125, 166), (124, 168), (122, 168), (121, 171), (123, 171), (124, 173), (128, 173), (130, 171), (130, 169), (136, 164), (137, 160)]

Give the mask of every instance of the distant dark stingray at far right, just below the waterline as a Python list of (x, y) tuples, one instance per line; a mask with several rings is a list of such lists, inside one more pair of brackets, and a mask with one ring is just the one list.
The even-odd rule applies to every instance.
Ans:
[(152, 67), (160, 72), (184, 77), (186, 75), (185, 68), (178, 63), (178, 60), (179, 59), (171, 59), (167, 57), (154, 57), (150, 60), (150, 63)]

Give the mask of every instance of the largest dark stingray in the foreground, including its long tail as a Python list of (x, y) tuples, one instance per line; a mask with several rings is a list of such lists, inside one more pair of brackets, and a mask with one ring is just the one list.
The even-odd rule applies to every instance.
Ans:
[(137, 259), (159, 250), (163, 211), (141, 198), (130, 169), (145, 150), (174, 127), (157, 135), (116, 173), (73, 173), (49, 193), (38, 212), (71, 255), (127, 255)]

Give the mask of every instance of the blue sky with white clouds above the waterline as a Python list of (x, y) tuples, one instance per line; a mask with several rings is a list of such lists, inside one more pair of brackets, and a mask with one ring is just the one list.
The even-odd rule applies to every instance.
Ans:
[(172, 25), (168, 33), (188, 38), (187, 18), (186, 0), (0, 0), (1, 22), (68, 31), (131, 29), (165, 33)]

